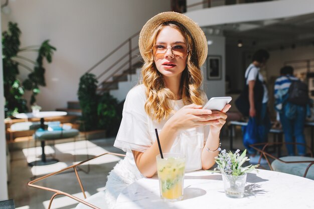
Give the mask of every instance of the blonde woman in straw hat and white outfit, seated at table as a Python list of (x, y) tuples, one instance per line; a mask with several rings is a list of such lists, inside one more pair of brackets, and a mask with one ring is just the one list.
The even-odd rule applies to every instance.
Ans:
[(226, 122), (222, 112), (202, 109), (201, 92), (207, 41), (201, 28), (188, 17), (166, 12), (150, 19), (139, 35), (144, 59), (142, 84), (129, 91), (114, 146), (126, 151), (108, 175), (106, 201), (113, 208), (128, 184), (156, 172), (159, 148), (186, 155), (186, 170), (209, 169), (218, 155), (219, 133)]

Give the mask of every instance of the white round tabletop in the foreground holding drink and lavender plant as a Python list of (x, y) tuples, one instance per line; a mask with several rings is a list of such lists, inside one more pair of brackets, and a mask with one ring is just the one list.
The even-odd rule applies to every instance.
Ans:
[(165, 202), (156, 176), (128, 185), (118, 196), (116, 209), (139, 208), (313, 208), (314, 180), (281, 172), (248, 173), (243, 198), (224, 193), (220, 173), (204, 170), (185, 174), (184, 199)]

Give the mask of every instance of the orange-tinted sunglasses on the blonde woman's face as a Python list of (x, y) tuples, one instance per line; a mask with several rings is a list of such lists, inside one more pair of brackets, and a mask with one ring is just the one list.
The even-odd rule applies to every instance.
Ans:
[(155, 59), (159, 59), (161, 57), (163, 57), (168, 49), (171, 49), (171, 53), (179, 59), (184, 59), (187, 57), (189, 50), (187, 49), (187, 47), (185, 45), (172, 45), (170, 47), (168, 47), (167, 45), (162, 45), (162, 44), (158, 44), (158, 45), (154, 45), (151, 49), (152, 54), (154, 56)]

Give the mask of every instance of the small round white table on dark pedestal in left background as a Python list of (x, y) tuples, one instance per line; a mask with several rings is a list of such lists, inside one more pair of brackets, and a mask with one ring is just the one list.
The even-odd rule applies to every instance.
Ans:
[[(41, 128), (45, 129), (45, 125), (44, 125), (45, 118), (63, 116), (66, 114), (67, 114), (67, 112), (63, 112), (63, 111), (43, 111), (43, 112), (18, 113), (15, 115), (15, 117), (21, 118), (21, 119), (40, 118)], [(58, 160), (56, 160), (56, 159), (49, 159), (49, 160), (46, 159), (45, 141), (44, 140), (41, 141), (41, 147), (42, 147), (42, 158), (41, 158), (41, 160), (30, 162), (29, 163), (30, 166), (49, 165), (49, 164), (53, 164), (53, 163), (58, 162)]]

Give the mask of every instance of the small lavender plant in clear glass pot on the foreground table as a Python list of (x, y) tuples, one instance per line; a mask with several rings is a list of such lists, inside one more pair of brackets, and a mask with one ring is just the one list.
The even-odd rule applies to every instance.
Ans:
[(237, 149), (235, 153), (232, 153), (231, 151), (226, 152), (225, 149), (222, 150), (218, 156), (215, 157), (217, 167), (214, 169), (214, 171), (219, 170), (222, 174), (226, 195), (236, 198), (244, 196), (247, 172), (253, 170), (258, 172), (258, 170), (256, 170), (258, 165), (242, 167), (243, 163), (250, 159), (245, 155), (246, 149), (241, 155), (239, 151), (240, 150)]

